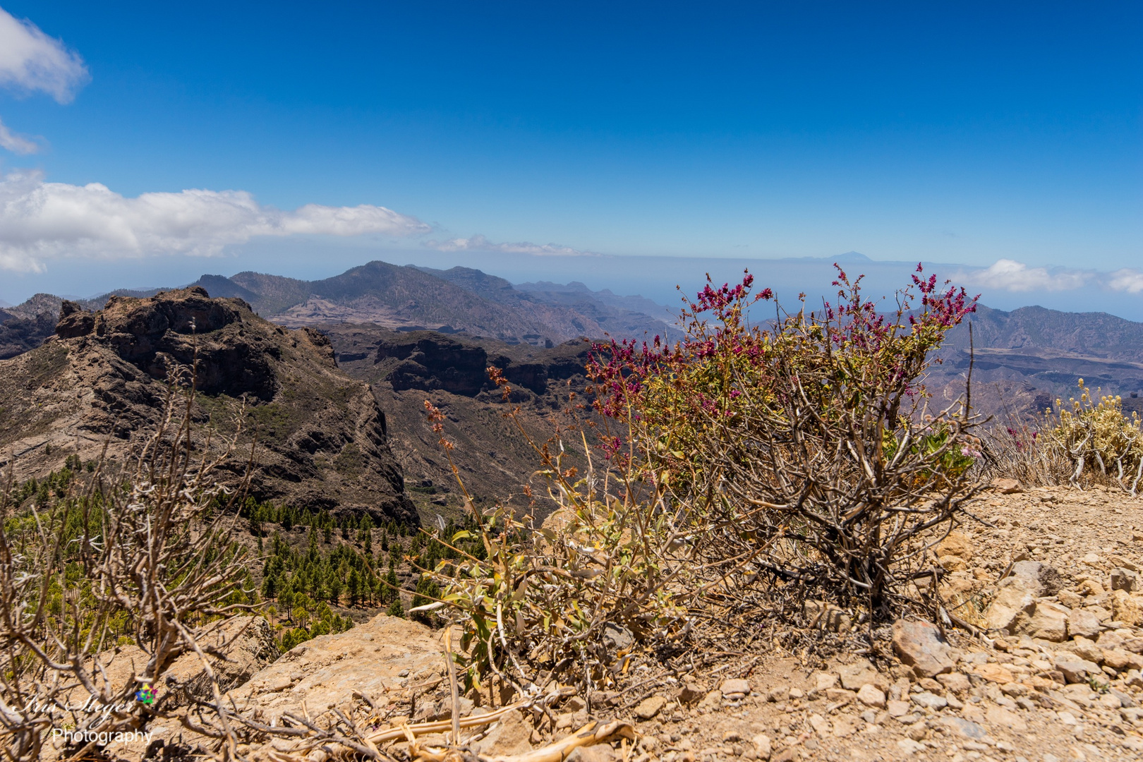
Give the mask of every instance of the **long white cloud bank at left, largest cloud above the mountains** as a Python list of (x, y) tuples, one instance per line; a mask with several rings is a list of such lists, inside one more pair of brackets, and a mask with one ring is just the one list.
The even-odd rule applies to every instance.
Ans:
[(211, 256), (257, 235), (418, 235), (431, 228), (385, 207), (294, 211), (261, 206), (246, 191), (189, 190), (129, 199), (99, 183), (45, 183), (39, 173), (0, 181), (0, 268), (41, 271), (49, 259), (161, 254)]

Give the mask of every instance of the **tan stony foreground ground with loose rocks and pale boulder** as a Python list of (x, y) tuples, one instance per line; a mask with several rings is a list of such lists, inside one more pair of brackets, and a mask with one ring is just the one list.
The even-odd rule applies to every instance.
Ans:
[[(884, 632), (884, 651), (829, 660), (756, 647), (705, 659), (700, 653), (689, 671), (663, 674), (648, 657), (620, 683), (622, 692), (577, 696), (566, 689), (550, 715), (511, 712), (464, 737), (480, 755), (512, 755), (591, 720), (618, 719), (631, 723), (632, 739), (573, 756), (1143, 760), (1140, 507), (1137, 499), (1102, 489), (993, 491), (977, 500), (973, 512), (982, 522), (968, 522), (938, 551), (950, 570), (942, 583), (949, 608), (981, 625), (976, 635), (964, 628), (942, 635), (902, 620)], [(298, 645), (231, 696), (267, 724), (280, 723), (285, 712), (315, 716), (337, 708), (371, 733), (451, 713), (441, 632), (385, 616)], [(479, 704), (479, 697), (462, 698), (462, 715), (491, 709)], [(197, 743), (165, 724), (157, 738), (168, 752)], [(443, 744), (445, 737), (423, 740)], [(408, 754), (407, 741), (389, 743), (382, 746), (393, 756)], [(152, 741), (153, 759), (160, 751)], [(145, 754), (121, 749), (121, 759)], [(312, 752), (307, 759), (326, 757)]]

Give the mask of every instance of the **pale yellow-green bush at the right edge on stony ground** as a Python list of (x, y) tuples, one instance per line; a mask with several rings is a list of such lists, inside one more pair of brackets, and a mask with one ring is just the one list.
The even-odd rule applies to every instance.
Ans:
[[(1143, 431), (1138, 416), (1125, 416), (1118, 396), (1103, 395), (1095, 402), (1082, 378), (1079, 391), (1078, 400), (1069, 400), (1070, 410), (1062, 400), (1056, 400), (1060, 420), (1049, 432), (1053, 443), (1074, 463), (1071, 483), (1079, 484), (1085, 468), (1097, 467), (1101, 474), (1111, 468), (1114, 479), (1135, 494), (1143, 476)], [(1130, 487), (1125, 478), (1130, 479)]]

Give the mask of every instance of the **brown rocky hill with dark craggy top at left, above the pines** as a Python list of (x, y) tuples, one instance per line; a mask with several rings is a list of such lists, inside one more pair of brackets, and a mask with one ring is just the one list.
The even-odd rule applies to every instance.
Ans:
[(63, 303), (54, 337), (0, 362), (0, 463), (37, 475), (72, 454), (96, 457), (104, 441), (129, 457), (159, 419), (168, 377), (191, 366), (198, 422), (226, 432), (242, 416), (256, 432), (255, 497), (415, 519), (384, 414), (337, 369), (329, 340), (198, 287), (112, 297), (95, 313)]

